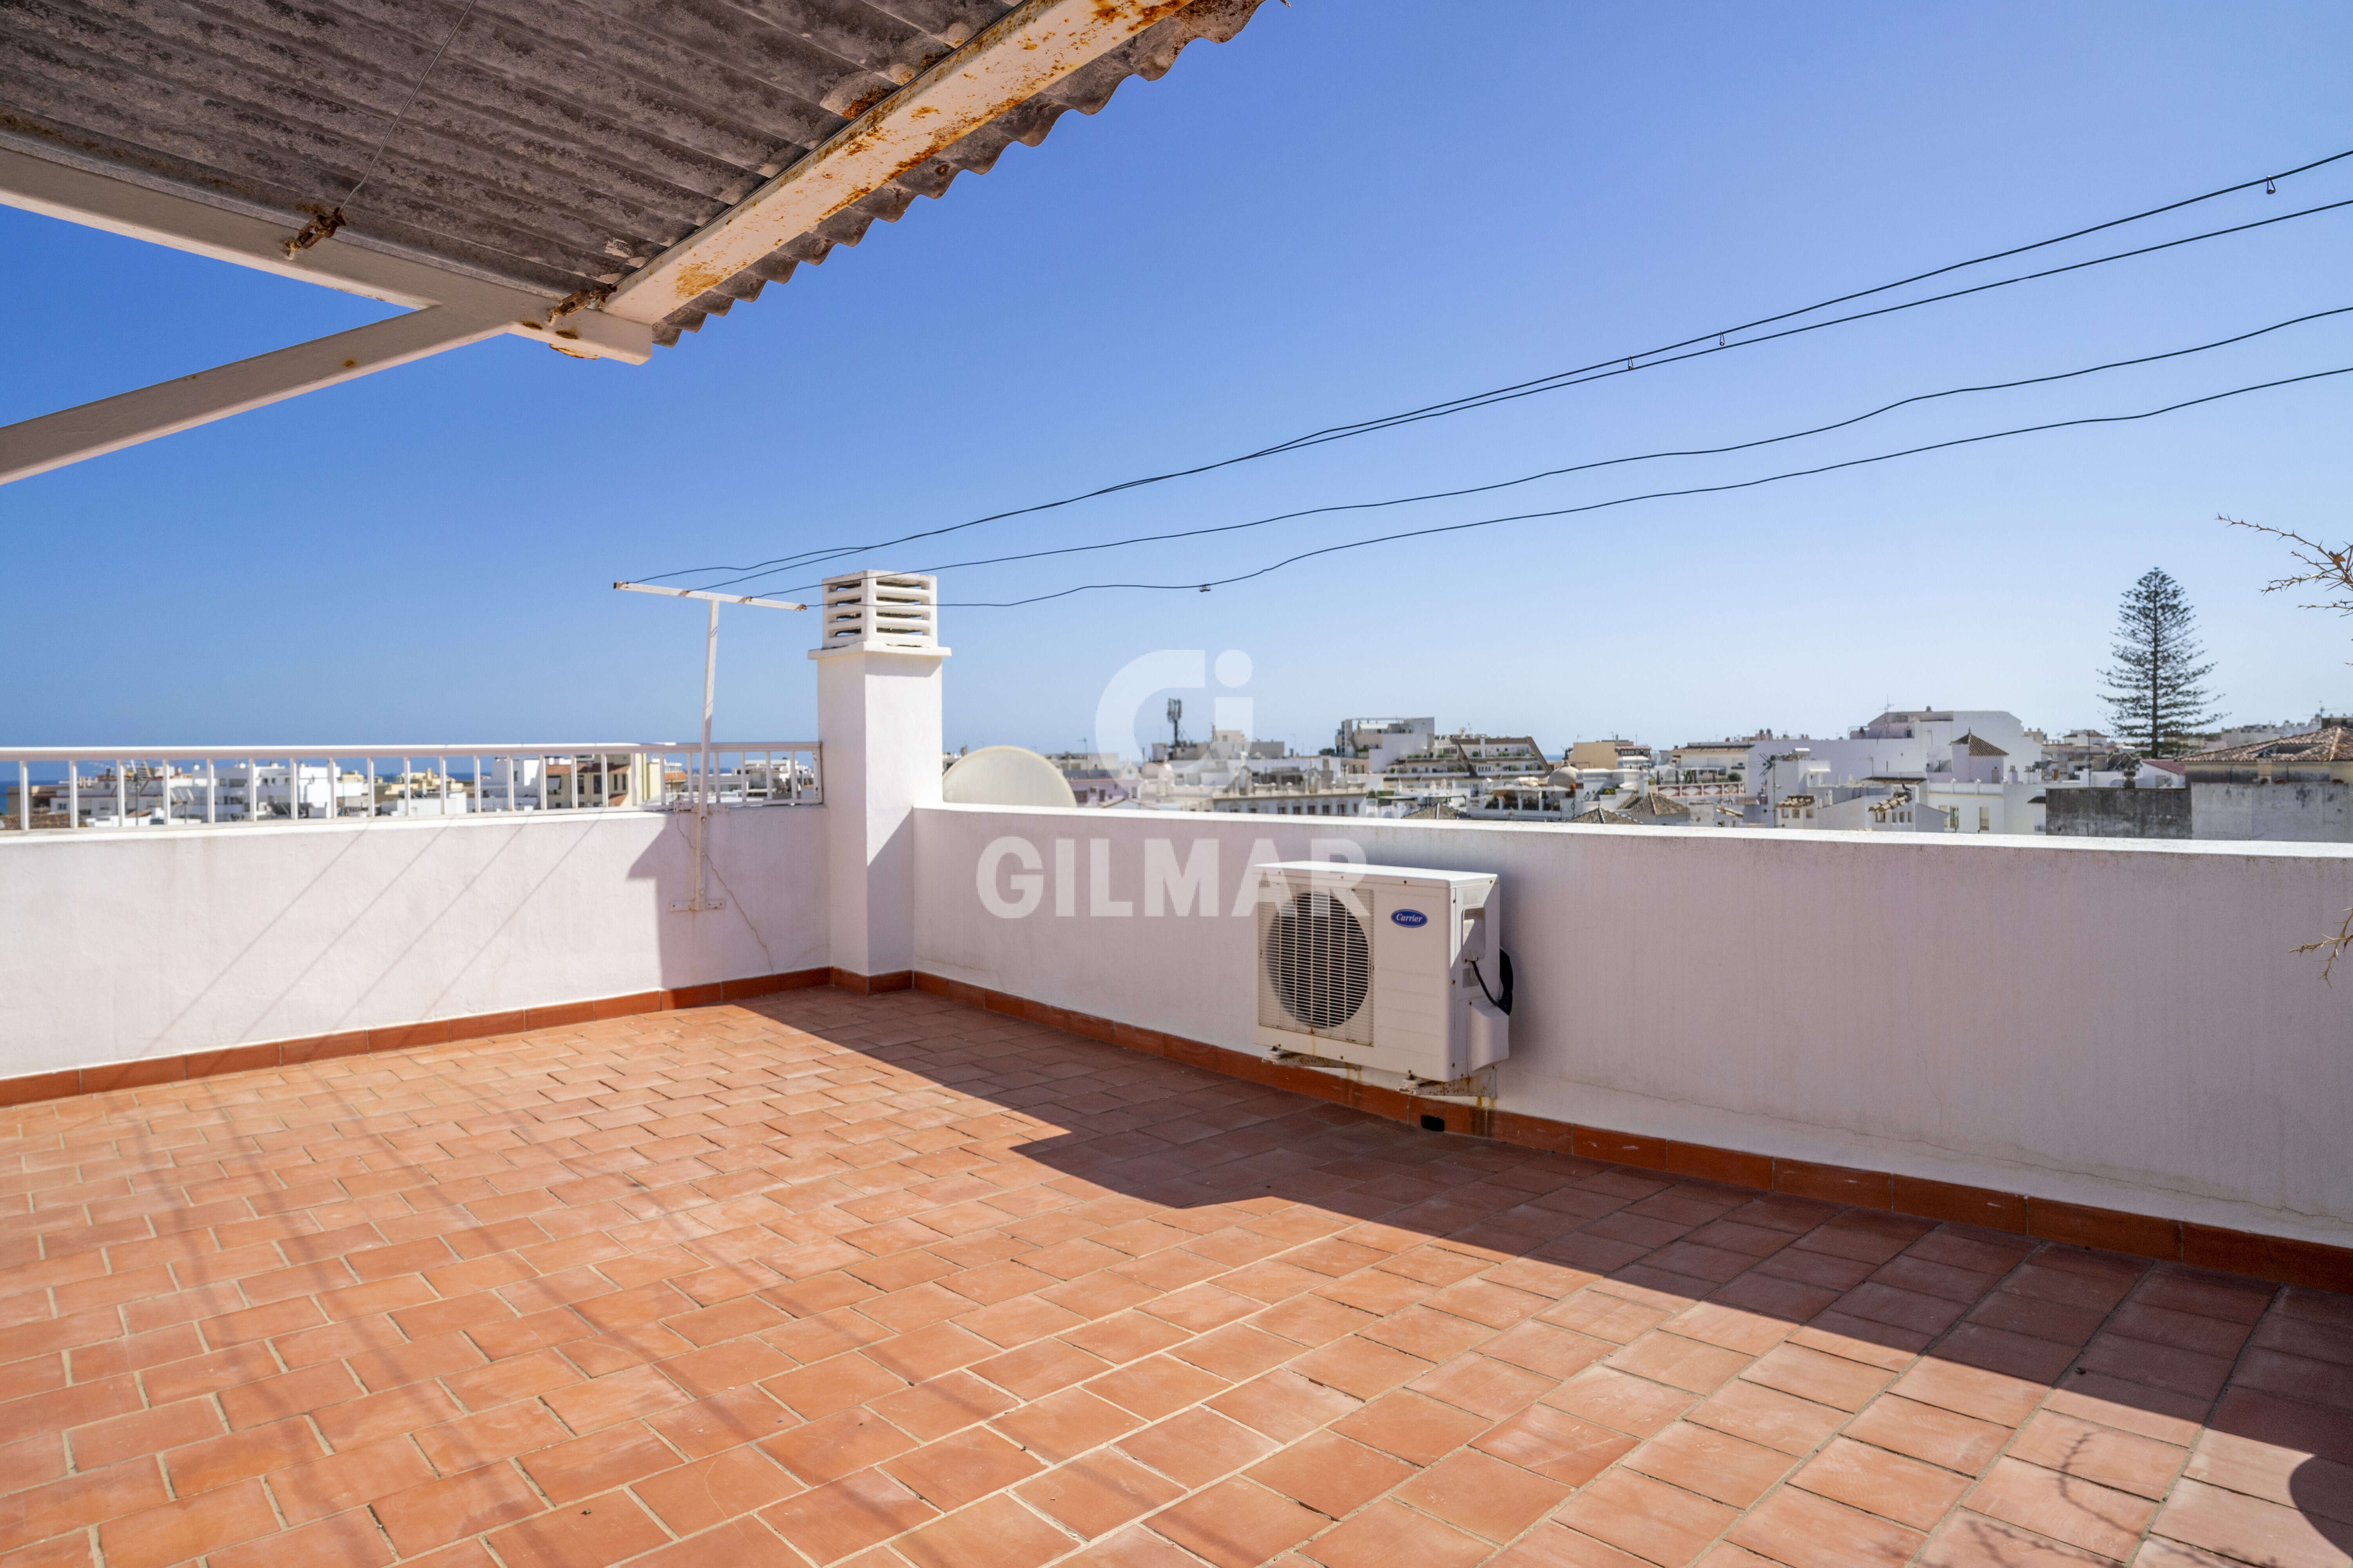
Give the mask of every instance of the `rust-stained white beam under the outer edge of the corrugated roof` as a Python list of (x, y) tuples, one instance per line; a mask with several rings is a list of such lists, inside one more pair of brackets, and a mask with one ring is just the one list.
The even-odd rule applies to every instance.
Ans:
[(605, 313), (647, 324), (664, 320), (1188, 2), (1024, 0), (821, 148), (633, 273), (605, 301)]

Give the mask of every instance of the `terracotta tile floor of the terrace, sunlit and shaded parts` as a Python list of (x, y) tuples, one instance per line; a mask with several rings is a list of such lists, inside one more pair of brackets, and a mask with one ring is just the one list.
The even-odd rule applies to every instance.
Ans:
[(0, 1563), (2329, 1568), (2353, 1300), (925, 994), (0, 1112)]

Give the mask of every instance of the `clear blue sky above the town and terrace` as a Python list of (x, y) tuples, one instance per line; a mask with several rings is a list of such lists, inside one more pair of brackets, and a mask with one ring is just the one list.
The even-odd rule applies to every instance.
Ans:
[[(1452, 24), (1452, 26), (1445, 26)], [(0, 738), (661, 738), (701, 616), (616, 576), (889, 538), (1769, 315), (2353, 148), (2341, 5), (1268, 0), (642, 369), (513, 339), (0, 489)], [(2042, 256), (2353, 197), (2353, 160)], [(0, 418), (384, 308), (0, 209)], [(1845, 418), (2353, 306), (2353, 209), (969, 529), (922, 569)], [(2024, 270), (2012, 266), (2009, 270)], [(1984, 277), (2005, 275), (1986, 268)], [(1972, 275), (1969, 280), (1977, 280)], [(1760, 454), (948, 574), (951, 599), (1715, 484), (2353, 364), (2353, 315)], [(948, 741), (1075, 745), (1153, 649), (1242, 649), (1257, 729), (1428, 712), (1548, 745), (1880, 710), (2101, 719), (2172, 571), (2233, 719), (2353, 708), (2348, 625), (2217, 512), (2344, 538), (2353, 376), (1751, 491), (944, 616)], [(805, 578), (781, 578), (791, 588)], [(720, 729), (814, 731), (807, 616), (734, 611)], [(1207, 708), (1207, 696), (1202, 708)], [(1158, 712), (1158, 703), (1153, 705)]]

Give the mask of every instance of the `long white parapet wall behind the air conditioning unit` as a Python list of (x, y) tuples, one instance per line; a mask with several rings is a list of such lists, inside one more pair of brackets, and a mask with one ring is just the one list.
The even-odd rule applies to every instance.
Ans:
[[(991, 806), (915, 827), (925, 973), (1254, 1051), (1245, 867), (1501, 872), (1501, 1110), (2353, 1244), (2353, 973), (2294, 954), (2353, 905), (2353, 846)], [(991, 893), (1019, 907), (1038, 865), (1028, 914), (984, 903), (1002, 839), (1035, 860), (1000, 849)], [(1217, 912), (1179, 914), (1167, 872), (1202, 844)]]

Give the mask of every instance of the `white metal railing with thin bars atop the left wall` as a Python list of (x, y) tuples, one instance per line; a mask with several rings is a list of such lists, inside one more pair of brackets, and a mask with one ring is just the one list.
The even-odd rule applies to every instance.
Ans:
[[(496, 745), (0, 748), (0, 832), (240, 827), (489, 811), (692, 811), (704, 752), (675, 741)], [(713, 806), (816, 806), (814, 741), (711, 745)]]

